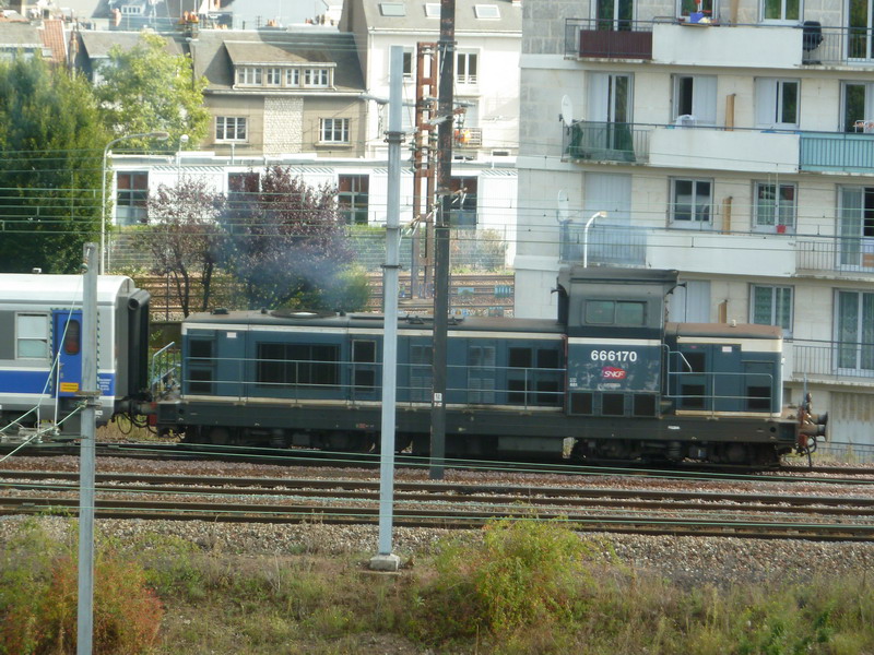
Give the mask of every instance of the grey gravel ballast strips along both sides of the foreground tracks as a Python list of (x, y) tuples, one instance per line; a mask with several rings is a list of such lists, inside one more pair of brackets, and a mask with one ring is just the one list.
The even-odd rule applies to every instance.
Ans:
[[(33, 461), (29, 461), (33, 460)], [(55, 457), (51, 467), (75, 471), (74, 457)], [(11, 464), (7, 466), (7, 464)], [(4, 463), (8, 468), (40, 468), (48, 466), (44, 458), (19, 457)], [(102, 461), (101, 471), (126, 471), (142, 473), (177, 473), (226, 476), (283, 477), (370, 477), (369, 472), (361, 469), (285, 468), (256, 466), (249, 464), (203, 463), (203, 462), (155, 462), (143, 460)], [(516, 475), (516, 474), (511, 474)], [(425, 472), (399, 471), (398, 479), (426, 479)], [(558, 486), (569, 484), (566, 476), (525, 476), (508, 479), (508, 474), (477, 474), (472, 472), (447, 472), (447, 480), (454, 483), (527, 484), (531, 486)], [(570, 478), (576, 485), (584, 486), (634, 486), (641, 487), (640, 478), (586, 477), (582, 480)], [(671, 488), (688, 487), (690, 483), (676, 480), (658, 481)], [(741, 483), (740, 486), (759, 483)], [(719, 486), (723, 484), (720, 483)], [(783, 486), (764, 483), (768, 493), (778, 492)], [(737, 484), (724, 484), (727, 488), (740, 490)], [(811, 493), (802, 485), (786, 485), (787, 493)], [(816, 486), (823, 493), (825, 485)], [(854, 488), (851, 495), (869, 496), (874, 491), (869, 486)], [(708, 487), (709, 488), (709, 487)], [(717, 487), (713, 488), (717, 490)], [(846, 487), (835, 489), (836, 495), (850, 495)], [(70, 520), (60, 517), (42, 519), (59, 538), (69, 534)], [(0, 519), (0, 546), (5, 543), (23, 523), (21, 517)], [(223, 556), (283, 556), (307, 552), (319, 556), (355, 555), (363, 559), (375, 555), (378, 545), (377, 526), (336, 526), (323, 524), (270, 525), (270, 524), (221, 524), (201, 521), (137, 521), (98, 520), (97, 527), (103, 533), (128, 541), (139, 534), (155, 532), (189, 540), (205, 552)], [(393, 531), (393, 550), (404, 561), (415, 559), (416, 555), (428, 552), (434, 545), (457, 532), (442, 529), (422, 529), (397, 527)], [(471, 538), (477, 538), (470, 533)], [(784, 579), (808, 580), (816, 576), (834, 576), (840, 573), (866, 574), (874, 567), (874, 544), (818, 543), (806, 540), (761, 540), (735, 537), (666, 537), (641, 535), (586, 534), (601, 544), (604, 559), (610, 559), (611, 550), (621, 563), (637, 572), (652, 572), (665, 576), (683, 586), (702, 583), (744, 584), (756, 581)], [(874, 570), (872, 570), (874, 575)]]

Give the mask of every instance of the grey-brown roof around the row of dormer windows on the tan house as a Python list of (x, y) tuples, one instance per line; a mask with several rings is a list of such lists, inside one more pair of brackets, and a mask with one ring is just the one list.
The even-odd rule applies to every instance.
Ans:
[(206, 78), (210, 91), (233, 88), (234, 66), (307, 62), (334, 63), (338, 91), (364, 90), (355, 39), (336, 29), (201, 29), (190, 47), (194, 74)]

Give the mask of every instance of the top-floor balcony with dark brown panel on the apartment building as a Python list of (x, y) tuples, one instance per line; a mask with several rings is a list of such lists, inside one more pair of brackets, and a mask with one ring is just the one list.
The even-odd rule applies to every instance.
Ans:
[(565, 21), (565, 56), (580, 59), (652, 59), (652, 23)]

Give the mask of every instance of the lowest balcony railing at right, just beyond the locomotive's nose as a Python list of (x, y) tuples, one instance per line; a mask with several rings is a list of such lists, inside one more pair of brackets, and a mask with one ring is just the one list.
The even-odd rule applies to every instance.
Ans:
[(865, 379), (874, 382), (874, 344), (794, 341), (792, 374), (820, 379)]

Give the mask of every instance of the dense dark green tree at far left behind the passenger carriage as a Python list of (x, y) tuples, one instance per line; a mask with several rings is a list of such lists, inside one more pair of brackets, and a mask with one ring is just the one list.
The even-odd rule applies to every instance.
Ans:
[(101, 231), (109, 139), (84, 79), (38, 57), (0, 61), (0, 271), (78, 270)]

